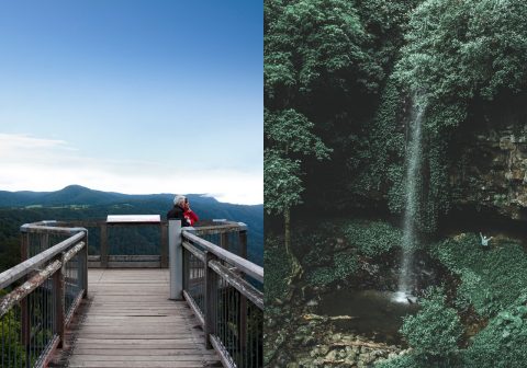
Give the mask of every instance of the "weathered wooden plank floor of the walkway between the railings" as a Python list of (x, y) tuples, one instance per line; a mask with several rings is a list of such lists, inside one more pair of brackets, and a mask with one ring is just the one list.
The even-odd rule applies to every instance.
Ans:
[(184, 301), (168, 300), (168, 269), (89, 272), (86, 314), (68, 367), (221, 367)]

